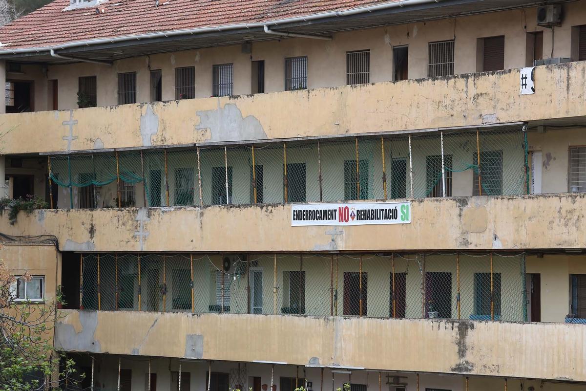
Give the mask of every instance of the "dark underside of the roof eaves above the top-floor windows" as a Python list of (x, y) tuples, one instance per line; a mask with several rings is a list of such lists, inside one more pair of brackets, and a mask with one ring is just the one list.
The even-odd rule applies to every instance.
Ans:
[[(416, 21), (428, 21), (442, 18), (452, 18), (456, 15), (469, 15), (514, 9), (524, 6), (543, 5), (550, 0), (440, 0), (419, 5), (373, 11), (350, 16), (331, 16), (329, 18), (312, 21), (288, 23), (271, 26), (272, 30), (298, 33), (306, 35), (328, 35), (333, 32), (372, 28), (384, 25), (396, 25)], [(559, 2), (559, 1), (556, 1)], [(263, 28), (243, 28), (225, 32), (186, 33), (185, 35), (168, 36), (163, 38), (143, 38), (125, 40), (124, 42), (100, 43), (60, 49), (54, 47), (60, 55), (74, 56), (80, 60), (113, 61), (127, 57), (144, 56), (154, 53), (173, 52), (178, 50), (199, 49), (202, 47), (234, 45), (243, 42), (258, 42), (262, 40), (278, 39), (275, 35), (264, 32)], [(0, 58), (18, 59), (19, 62), (32, 63), (71, 63), (72, 60), (52, 57), (49, 48), (40, 48), (29, 53), (0, 54)]]

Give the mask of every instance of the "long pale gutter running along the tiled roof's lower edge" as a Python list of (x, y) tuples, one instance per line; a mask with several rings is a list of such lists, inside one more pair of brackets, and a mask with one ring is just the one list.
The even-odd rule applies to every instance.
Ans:
[[(403, 8), (409, 6), (416, 6), (416, 5), (423, 5), (423, 4), (437, 4), (443, 0), (400, 0), (396, 2), (387, 2), (384, 4), (377, 4), (371, 5), (366, 7), (348, 9), (346, 11), (329, 11), (329, 12), (321, 12), (315, 13), (314, 15), (306, 15), (306, 16), (295, 16), (294, 18), (285, 18), (285, 19), (276, 19), (274, 21), (267, 21), (263, 23), (241, 23), (236, 25), (226, 25), (226, 26), (217, 26), (217, 27), (202, 27), (202, 28), (195, 28), (195, 29), (187, 29), (187, 30), (174, 30), (168, 32), (158, 32), (158, 33), (149, 33), (149, 34), (141, 34), (141, 35), (127, 35), (127, 36), (120, 36), (116, 38), (101, 38), (101, 39), (90, 39), (90, 40), (81, 40), (76, 42), (69, 42), (64, 43), (63, 45), (55, 45), (55, 46), (46, 46), (46, 47), (28, 47), (25, 49), (7, 49), (7, 50), (0, 50), (0, 55), (18, 55), (18, 54), (25, 54), (25, 53), (38, 53), (45, 54), (47, 52), (51, 52), (54, 50), (64, 50), (64, 49), (73, 49), (74, 47), (82, 47), (82, 46), (93, 46), (93, 45), (103, 45), (103, 44), (111, 44), (111, 43), (120, 43), (120, 42), (131, 42), (131, 41), (141, 41), (141, 40), (149, 40), (149, 39), (158, 39), (158, 38), (171, 38), (176, 36), (182, 35), (198, 35), (203, 33), (213, 33), (213, 32), (229, 32), (234, 30), (247, 30), (247, 29), (268, 29), (271, 33), (277, 33), (277, 35), (288, 34), (288, 36), (303, 36), (303, 38), (317, 38), (316, 36), (309, 36), (309, 35), (294, 35), (293, 33), (280, 33), (274, 30), (270, 30), (271, 26), (280, 26), (280, 25), (287, 25), (288, 23), (301, 23), (301, 22), (316, 22), (321, 21), (322, 19), (330, 19), (330, 18), (341, 18), (343, 16), (354, 16), (360, 15), (362, 13), (370, 13), (375, 11), (386, 11), (394, 8)], [(479, 0), (480, 1), (480, 0)], [(268, 33), (270, 34), (270, 33)], [(318, 38), (318, 39), (327, 39), (326, 37)], [(83, 59), (77, 59), (79, 61), (83, 61)]]

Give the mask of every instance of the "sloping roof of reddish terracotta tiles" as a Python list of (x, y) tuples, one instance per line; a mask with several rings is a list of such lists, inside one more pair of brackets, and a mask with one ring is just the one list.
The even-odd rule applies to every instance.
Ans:
[(109, 0), (64, 11), (55, 0), (0, 28), (0, 49), (47, 47), (81, 40), (274, 21), (398, 0)]

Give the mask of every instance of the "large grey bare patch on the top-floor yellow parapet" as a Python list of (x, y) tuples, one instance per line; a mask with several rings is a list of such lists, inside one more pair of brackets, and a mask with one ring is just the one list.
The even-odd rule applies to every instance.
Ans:
[(268, 138), (260, 121), (252, 115), (242, 117), (240, 108), (236, 104), (229, 103), (215, 110), (203, 110), (196, 113), (200, 117), (196, 130), (209, 130), (209, 138), (206, 141), (229, 140), (261, 140)]

